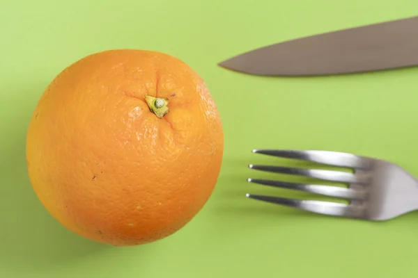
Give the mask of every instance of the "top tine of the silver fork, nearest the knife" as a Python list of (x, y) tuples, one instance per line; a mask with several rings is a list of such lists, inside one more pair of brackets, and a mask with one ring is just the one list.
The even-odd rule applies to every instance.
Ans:
[(268, 156), (300, 159), (304, 161), (311, 161), (339, 167), (350, 167), (357, 169), (365, 169), (370, 167), (370, 160), (368, 158), (344, 152), (314, 150), (296, 151), (286, 149), (253, 149), (253, 152), (256, 154), (266, 154)]

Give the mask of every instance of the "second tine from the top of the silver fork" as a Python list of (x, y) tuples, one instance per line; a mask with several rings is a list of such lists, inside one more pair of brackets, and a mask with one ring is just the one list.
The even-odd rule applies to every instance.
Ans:
[(270, 165), (253, 165), (249, 167), (254, 170), (265, 172), (274, 172), (278, 174), (295, 174), (298, 176), (311, 177), (314, 179), (322, 179), (324, 181), (336, 181), (342, 183), (359, 183), (365, 184), (366, 181), (352, 173), (333, 171), (333, 170), (315, 170), (302, 169), (293, 167), (270, 166)]

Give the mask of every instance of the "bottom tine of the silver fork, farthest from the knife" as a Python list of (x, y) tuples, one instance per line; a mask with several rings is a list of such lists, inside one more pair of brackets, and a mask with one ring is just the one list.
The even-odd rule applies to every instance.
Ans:
[(359, 206), (340, 204), (335, 202), (323, 202), (314, 200), (288, 199), (282, 197), (272, 197), (265, 195), (247, 194), (247, 197), (272, 204), (280, 204), (292, 208), (299, 208), (304, 211), (320, 213), (325, 215), (343, 216), (349, 218), (362, 218), (364, 209)]

